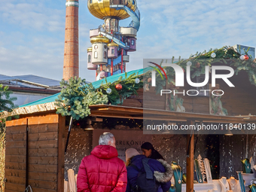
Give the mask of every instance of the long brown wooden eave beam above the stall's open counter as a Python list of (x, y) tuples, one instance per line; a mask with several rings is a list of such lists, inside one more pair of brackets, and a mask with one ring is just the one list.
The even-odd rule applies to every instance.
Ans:
[(134, 108), (120, 105), (90, 105), (91, 116), (119, 117), (148, 120), (187, 121), (196, 120), (210, 123), (249, 123), (256, 122), (256, 115), (219, 116), (160, 109)]

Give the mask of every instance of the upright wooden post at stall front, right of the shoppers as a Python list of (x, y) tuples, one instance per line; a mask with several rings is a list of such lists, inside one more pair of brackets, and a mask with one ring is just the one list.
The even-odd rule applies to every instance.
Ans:
[[(193, 120), (190, 120), (190, 124), (194, 124)], [(187, 135), (187, 150), (189, 155), (187, 157), (187, 184), (186, 192), (194, 191), (194, 133)]]

